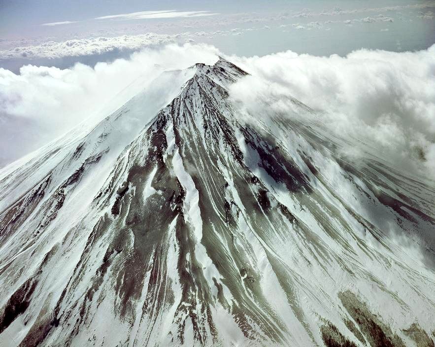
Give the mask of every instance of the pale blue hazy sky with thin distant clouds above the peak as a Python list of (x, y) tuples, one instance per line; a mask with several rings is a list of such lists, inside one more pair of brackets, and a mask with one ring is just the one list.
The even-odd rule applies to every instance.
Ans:
[(0, 0), (0, 67), (93, 66), (168, 42), (239, 56), (412, 51), (435, 43), (434, 13), (434, 0)]

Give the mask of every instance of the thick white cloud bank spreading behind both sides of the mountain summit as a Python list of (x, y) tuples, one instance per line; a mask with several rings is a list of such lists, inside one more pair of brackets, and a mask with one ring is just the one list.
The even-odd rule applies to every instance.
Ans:
[[(95, 68), (25, 66), (20, 74), (0, 69), (0, 166), (84, 119), (107, 115), (101, 105), (116, 99), (114, 107), (120, 106), (162, 71), (213, 63), (218, 54), (223, 55), (208, 45), (171, 44)], [(315, 109), (328, 131), (359, 139), (396, 165), (435, 177), (435, 45), (418, 52), (362, 49), (318, 57), (287, 51), (229, 60), (251, 73), (234, 84), (231, 98), (253, 117), (297, 117), (295, 98)], [(138, 78), (138, 87), (125, 89)], [(123, 89), (129, 93), (115, 98)], [(358, 154), (358, 148), (346, 151)]]

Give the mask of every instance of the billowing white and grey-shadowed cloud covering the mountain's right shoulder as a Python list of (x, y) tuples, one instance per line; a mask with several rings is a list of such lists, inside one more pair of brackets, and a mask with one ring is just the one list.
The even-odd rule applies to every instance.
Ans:
[(251, 73), (231, 93), (247, 114), (296, 117), (296, 98), (331, 132), (435, 178), (435, 45), (419, 52), (362, 49), (316, 57), (287, 51), (232, 59)]

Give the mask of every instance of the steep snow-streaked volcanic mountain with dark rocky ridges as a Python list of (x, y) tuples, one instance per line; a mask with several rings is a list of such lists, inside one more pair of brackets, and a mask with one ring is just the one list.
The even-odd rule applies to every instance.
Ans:
[(0, 346), (434, 346), (434, 182), (240, 116), (245, 74), (165, 72), (0, 171)]

